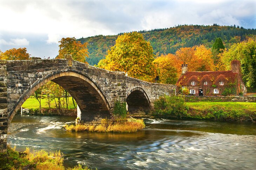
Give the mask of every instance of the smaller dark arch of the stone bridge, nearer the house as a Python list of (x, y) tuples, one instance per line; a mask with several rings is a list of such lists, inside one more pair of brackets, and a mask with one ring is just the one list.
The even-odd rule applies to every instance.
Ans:
[(131, 89), (126, 95), (128, 112), (148, 112), (150, 110), (150, 99), (146, 91), (141, 87)]

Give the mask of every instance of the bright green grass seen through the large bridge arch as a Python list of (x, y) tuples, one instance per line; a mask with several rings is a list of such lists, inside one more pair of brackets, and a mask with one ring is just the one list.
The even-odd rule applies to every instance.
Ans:
[[(63, 105), (63, 98), (61, 98), (61, 101)], [(58, 98), (56, 98), (56, 102), (58, 104)], [(76, 102), (75, 102), (75, 105), (76, 105)], [(41, 98), (41, 106), (42, 106), (42, 109), (49, 109), (46, 96), (43, 96), (43, 98)], [(35, 99), (35, 97), (31, 96), (22, 104), (22, 108), (39, 109), (39, 102), (38, 100)], [(54, 100), (50, 102), (50, 108), (56, 109)], [(66, 99), (65, 99), (65, 108), (66, 108)], [(74, 107), (73, 105), (72, 97), (68, 97), (68, 109), (76, 109), (76, 107)]]

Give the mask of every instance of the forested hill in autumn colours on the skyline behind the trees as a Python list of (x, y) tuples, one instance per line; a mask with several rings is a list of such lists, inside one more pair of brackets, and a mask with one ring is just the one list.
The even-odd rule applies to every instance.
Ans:
[[(232, 44), (241, 42), (248, 37), (256, 35), (256, 29), (244, 29), (243, 27), (214, 25), (178, 25), (172, 28), (143, 30), (144, 39), (153, 46), (156, 57), (161, 54), (175, 53), (181, 47), (192, 47), (204, 44), (210, 48), (215, 38), (221, 37), (224, 46), (229, 48)], [(121, 35), (120, 33), (118, 35)], [(82, 43), (88, 43), (90, 65), (97, 64), (106, 56), (110, 47), (115, 45), (118, 35), (97, 35), (94, 37), (78, 39)]]

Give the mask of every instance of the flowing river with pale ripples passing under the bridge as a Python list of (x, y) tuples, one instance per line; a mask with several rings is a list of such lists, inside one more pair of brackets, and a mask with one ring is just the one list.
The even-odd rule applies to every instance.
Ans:
[(34, 123), (8, 134), (16, 150), (61, 150), (65, 166), (93, 169), (255, 169), (256, 123), (145, 119), (136, 133), (67, 132), (75, 117), (20, 116)]

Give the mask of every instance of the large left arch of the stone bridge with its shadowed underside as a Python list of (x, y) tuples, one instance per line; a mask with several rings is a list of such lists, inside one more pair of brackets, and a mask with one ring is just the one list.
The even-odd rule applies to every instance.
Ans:
[[(53, 81), (65, 88), (76, 100), (81, 112), (82, 120), (91, 122), (95, 117), (110, 117), (110, 104), (101, 88), (87, 76), (73, 70), (61, 70), (52, 72), (35, 81), (20, 96), (18, 102), (9, 112), (8, 124), (12, 121), (22, 104), (38, 88), (49, 81)], [(96, 113), (96, 114), (95, 114)]]

